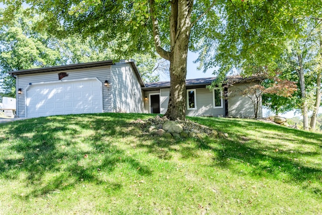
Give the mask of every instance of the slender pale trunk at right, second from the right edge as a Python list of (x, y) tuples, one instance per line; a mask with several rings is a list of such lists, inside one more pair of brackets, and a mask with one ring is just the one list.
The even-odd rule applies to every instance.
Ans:
[(302, 55), (297, 55), (299, 68), (296, 69), (297, 75), (300, 82), (301, 98), (302, 98), (302, 115), (303, 115), (303, 129), (308, 130), (308, 115), (307, 115), (307, 101), (305, 92), (305, 79), (304, 79), (304, 69), (302, 62)]

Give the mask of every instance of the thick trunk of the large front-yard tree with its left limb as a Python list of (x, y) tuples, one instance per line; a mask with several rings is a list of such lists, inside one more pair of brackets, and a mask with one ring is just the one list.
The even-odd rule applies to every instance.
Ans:
[(170, 60), (170, 98), (166, 116), (171, 120), (186, 119), (186, 76), (188, 44), (191, 32), (193, 0), (172, 0), (170, 16), (170, 52), (159, 41), (157, 20), (153, 16), (154, 0), (150, 0), (153, 36), (156, 51)]

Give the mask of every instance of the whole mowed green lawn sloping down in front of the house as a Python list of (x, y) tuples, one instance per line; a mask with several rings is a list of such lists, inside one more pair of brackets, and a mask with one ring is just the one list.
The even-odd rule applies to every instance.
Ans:
[(189, 118), (228, 138), (165, 139), (146, 114), (0, 124), (0, 214), (322, 214), (322, 135)]

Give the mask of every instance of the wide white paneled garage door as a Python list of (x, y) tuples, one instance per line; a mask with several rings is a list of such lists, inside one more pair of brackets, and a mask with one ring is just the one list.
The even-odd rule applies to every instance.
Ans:
[(29, 85), (26, 116), (103, 112), (102, 83), (97, 79)]

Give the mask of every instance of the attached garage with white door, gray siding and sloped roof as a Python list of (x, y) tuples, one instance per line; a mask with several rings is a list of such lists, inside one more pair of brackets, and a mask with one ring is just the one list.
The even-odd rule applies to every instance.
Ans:
[(142, 113), (144, 82), (134, 60), (112, 60), (11, 71), (17, 116)]

